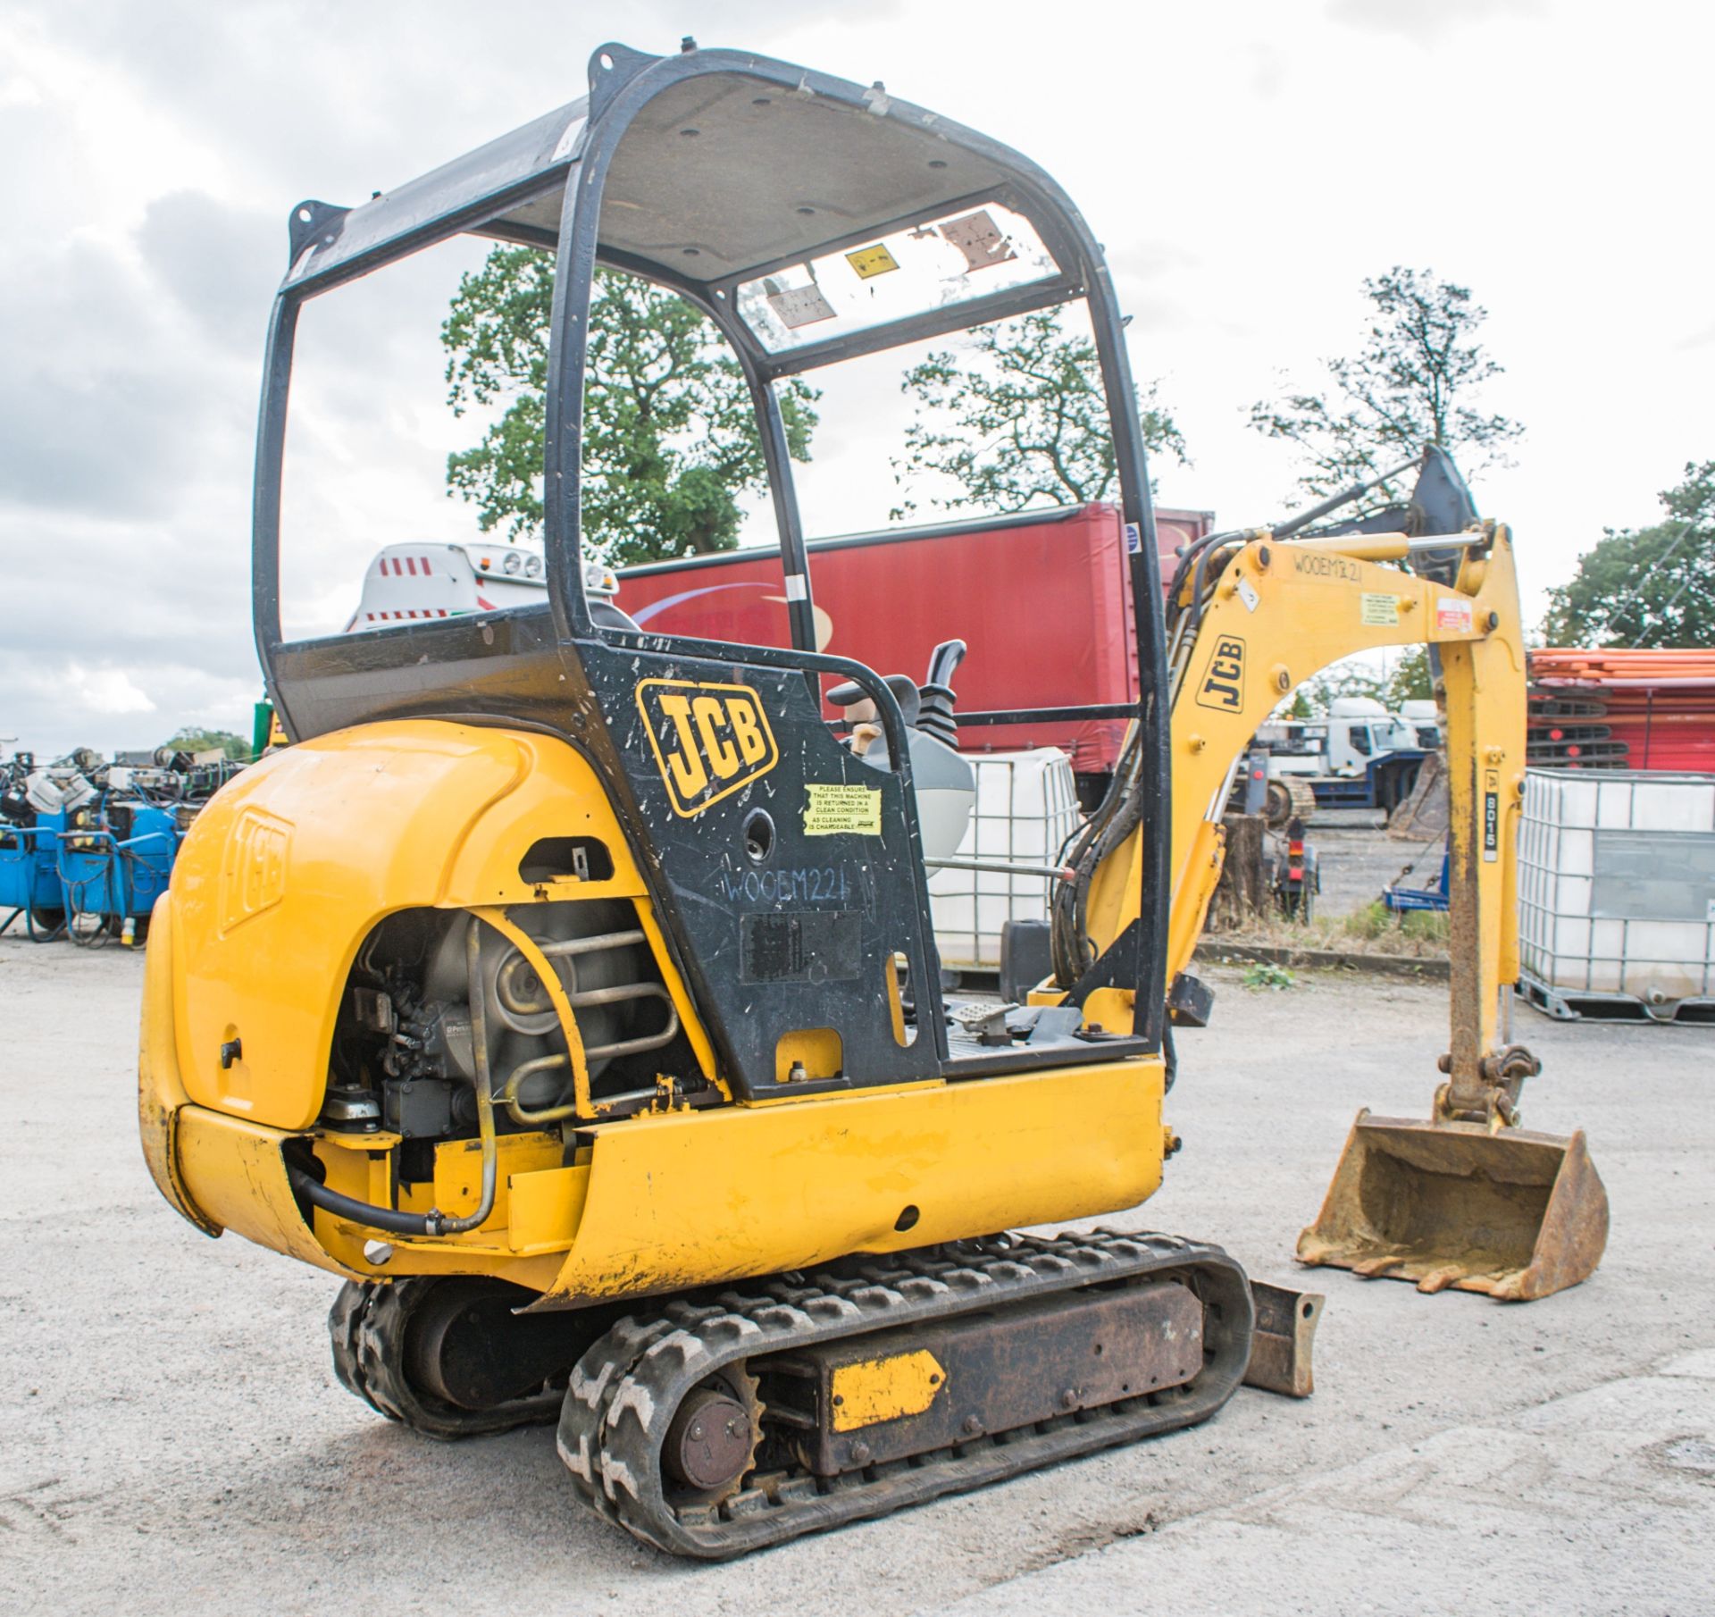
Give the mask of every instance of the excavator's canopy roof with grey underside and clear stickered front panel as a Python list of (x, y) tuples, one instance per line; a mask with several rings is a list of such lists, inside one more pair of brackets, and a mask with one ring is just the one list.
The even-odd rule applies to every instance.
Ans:
[(1024, 158), (847, 81), (736, 51), (607, 46), (590, 94), (357, 207), (292, 214), (286, 295), (446, 235), (554, 247), (600, 180), (597, 252), (729, 314), (770, 370), (1060, 302), (1075, 214)]

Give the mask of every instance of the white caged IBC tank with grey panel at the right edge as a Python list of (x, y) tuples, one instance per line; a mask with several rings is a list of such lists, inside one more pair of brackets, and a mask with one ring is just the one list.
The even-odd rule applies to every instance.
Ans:
[(1564, 995), (1715, 995), (1715, 775), (1530, 770), (1519, 960)]

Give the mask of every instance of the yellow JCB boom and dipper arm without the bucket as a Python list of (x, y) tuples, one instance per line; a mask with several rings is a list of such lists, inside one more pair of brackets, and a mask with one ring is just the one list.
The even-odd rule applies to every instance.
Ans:
[[(1463, 549), (1453, 585), (1399, 571), (1417, 550)], [(1518, 976), (1514, 842), (1525, 789), (1525, 641), (1513, 538), (1403, 533), (1252, 538), (1226, 554), (1175, 640), (1170, 979), (1190, 965), (1221, 875), (1221, 815), (1257, 727), (1303, 681), (1353, 652), (1441, 648), (1451, 806), (1453, 1039), (1449, 1097), (1485, 1108), (1483, 1061), (1504, 1037)], [(1188, 614), (1195, 614), (1194, 624)], [(1135, 839), (1134, 839), (1135, 840)], [(1098, 869), (1098, 950), (1137, 916), (1135, 847)]]

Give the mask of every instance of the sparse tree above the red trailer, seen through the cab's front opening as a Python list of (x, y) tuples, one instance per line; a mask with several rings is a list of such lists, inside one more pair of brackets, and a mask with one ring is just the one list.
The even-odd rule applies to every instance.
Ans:
[[(959, 353), (931, 353), (900, 384), (918, 413), (894, 482), (923, 473), (957, 484), (942, 506), (1022, 511), (1036, 502), (1082, 506), (1118, 484), (1096, 345), (1067, 333), (1060, 309), (976, 326)], [(1156, 391), (1139, 394), (1144, 444), (1185, 463), (1185, 439)], [(907, 492), (892, 516), (918, 509)]]

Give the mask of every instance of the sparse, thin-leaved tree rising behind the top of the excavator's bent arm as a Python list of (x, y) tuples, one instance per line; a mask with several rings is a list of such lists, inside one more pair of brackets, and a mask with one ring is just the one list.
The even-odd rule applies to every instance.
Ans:
[[(1326, 499), (1441, 444), (1471, 477), (1507, 465), (1506, 446), (1525, 429), (1471, 403), (1502, 374), (1478, 341), (1489, 310), (1465, 286), (1432, 271), (1394, 266), (1363, 281), (1370, 329), (1350, 358), (1324, 360), (1327, 386), (1288, 391), (1250, 406), (1250, 425), (1298, 451), (1297, 494)], [(1410, 480), (1374, 490), (1369, 504), (1403, 499)], [(1362, 509), (1362, 508), (1358, 508)]]

